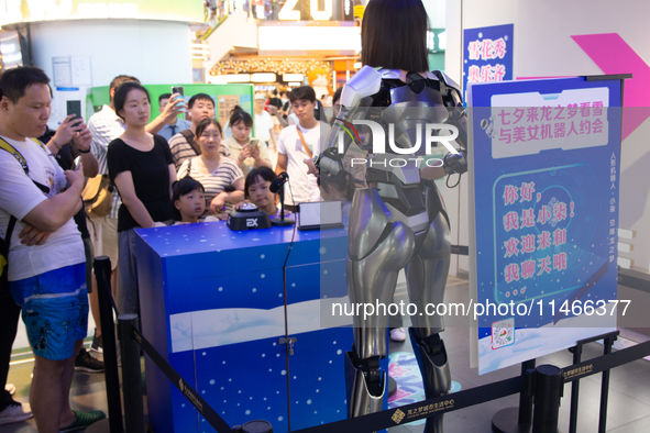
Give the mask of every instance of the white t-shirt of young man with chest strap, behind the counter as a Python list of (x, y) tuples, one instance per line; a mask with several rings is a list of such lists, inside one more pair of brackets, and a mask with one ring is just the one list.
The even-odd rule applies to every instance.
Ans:
[(321, 136), (323, 140), (329, 140), (331, 133), (330, 125), (324, 122), (319, 122), (318, 126), (310, 130), (297, 124), (287, 126), (280, 132), (277, 138), (277, 152), (280, 155), (287, 155), (287, 174), (289, 175), (290, 186), (289, 189), (285, 190), (287, 204), (320, 201), (320, 190), (316, 176), (307, 174), (307, 164), (304, 163), (304, 159), (310, 158), (310, 156), (302, 147), (297, 127), (302, 132), (305, 142), (312, 155), (320, 154)]

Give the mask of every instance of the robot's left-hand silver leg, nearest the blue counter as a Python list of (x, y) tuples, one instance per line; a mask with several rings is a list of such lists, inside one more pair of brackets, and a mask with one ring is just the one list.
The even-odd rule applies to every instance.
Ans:
[[(354, 347), (345, 360), (351, 418), (382, 409), (386, 373), (379, 369), (379, 358), (386, 356), (388, 314), (377, 307), (386, 306), (387, 310), (393, 302), (397, 273), (415, 249), (412, 231), (403, 223), (389, 223), (389, 218), (376, 190), (355, 192), (346, 266), (350, 302), (359, 308), (353, 315)], [(366, 306), (373, 306), (373, 314), (365, 315)]]

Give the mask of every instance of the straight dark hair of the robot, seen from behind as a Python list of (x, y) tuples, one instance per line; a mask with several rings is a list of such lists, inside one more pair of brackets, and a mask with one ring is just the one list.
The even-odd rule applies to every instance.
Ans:
[(361, 63), (414, 73), (429, 70), (427, 29), (421, 0), (372, 0), (361, 25)]

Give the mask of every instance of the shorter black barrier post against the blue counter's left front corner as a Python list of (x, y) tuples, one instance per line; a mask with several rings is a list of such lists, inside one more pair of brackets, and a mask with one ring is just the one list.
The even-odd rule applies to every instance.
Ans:
[(120, 314), (118, 318), (118, 332), (122, 356), (125, 428), (129, 433), (144, 433), (140, 345), (133, 337), (133, 329), (140, 331), (137, 314)]

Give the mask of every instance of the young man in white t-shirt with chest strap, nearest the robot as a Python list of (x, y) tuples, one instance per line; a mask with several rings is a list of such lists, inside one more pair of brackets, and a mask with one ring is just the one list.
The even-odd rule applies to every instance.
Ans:
[(289, 188), (285, 190), (287, 209), (296, 210), (302, 202), (320, 201), (316, 176), (307, 173), (305, 159), (320, 154), (320, 140), (330, 136), (331, 127), (313, 116), (316, 93), (310, 86), (298, 87), (289, 95), (298, 124), (285, 127), (277, 138), (276, 173), (289, 175)]

